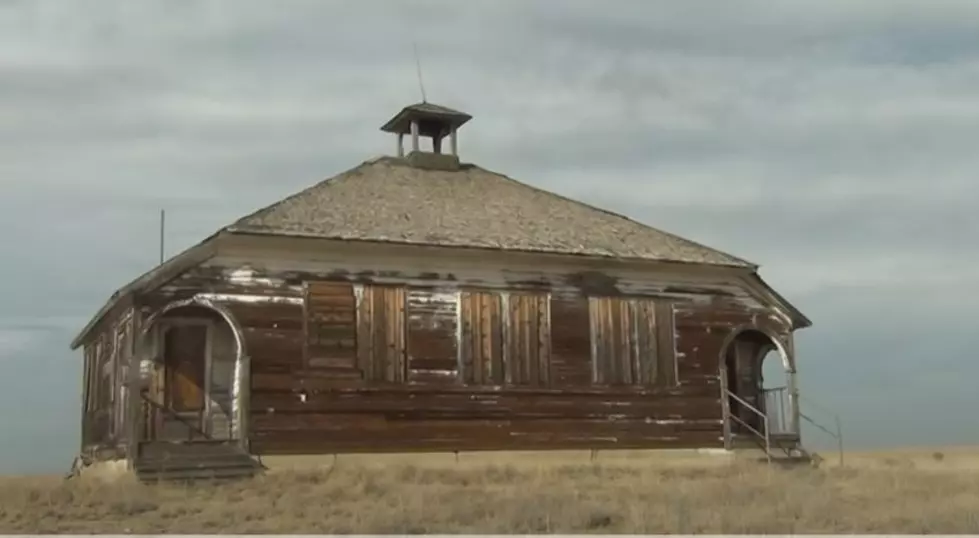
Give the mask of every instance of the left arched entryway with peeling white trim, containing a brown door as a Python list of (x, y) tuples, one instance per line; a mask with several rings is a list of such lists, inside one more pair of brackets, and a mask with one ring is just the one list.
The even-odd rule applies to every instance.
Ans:
[(140, 437), (238, 439), (244, 348), (231, 314), (206, 300), (174, 302), (146, 320), (140, 337)]

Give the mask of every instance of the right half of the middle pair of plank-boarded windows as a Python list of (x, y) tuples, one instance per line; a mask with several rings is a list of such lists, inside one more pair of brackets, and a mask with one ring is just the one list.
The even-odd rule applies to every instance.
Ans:
[(510, 293), (504, 302), (504, 377), (507, 384), (547, 386), (551, 349), (547, 295)]

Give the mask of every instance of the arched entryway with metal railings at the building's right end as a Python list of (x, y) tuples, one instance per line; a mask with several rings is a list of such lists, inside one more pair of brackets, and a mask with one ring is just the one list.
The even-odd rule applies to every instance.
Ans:
[(795, 366), (775, 336), (757, 329), (741, 330), (726, 342), (722, 359), (728, 407), (740, 419), (732, 424), (735, 433), (743, 427), (741, 423), (758, 431), (767, 428), (776, 435), (797, 433), (792, 396)]

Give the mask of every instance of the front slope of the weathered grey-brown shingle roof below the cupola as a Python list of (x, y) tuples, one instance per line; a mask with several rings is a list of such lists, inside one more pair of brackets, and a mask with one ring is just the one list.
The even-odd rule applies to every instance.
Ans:
[(471, 164), (381, 157), (243, 217), (231, 232), (752, 267), (624, 216)]

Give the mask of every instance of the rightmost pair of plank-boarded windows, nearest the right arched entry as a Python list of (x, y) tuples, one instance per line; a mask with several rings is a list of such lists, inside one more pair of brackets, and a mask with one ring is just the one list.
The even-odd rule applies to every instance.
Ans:
[(664, 330), (671, 330), (657, 325), (657, 311), (662, 308), (649, 299), (592, 297), (589, 303), (594, 382), (668, 383), (673, 354), (660, 352)]

